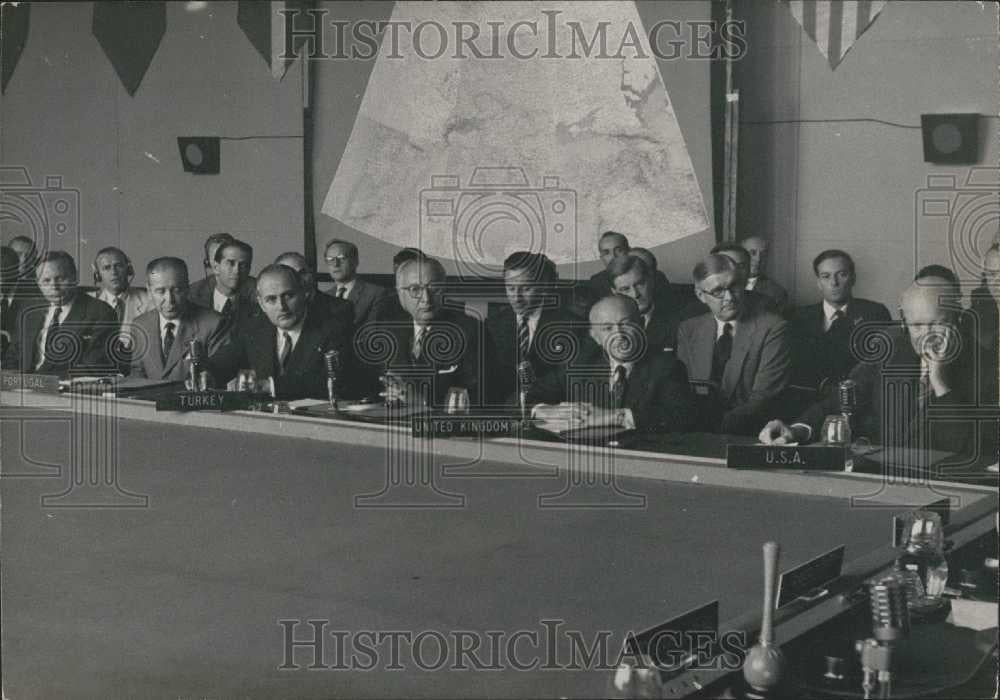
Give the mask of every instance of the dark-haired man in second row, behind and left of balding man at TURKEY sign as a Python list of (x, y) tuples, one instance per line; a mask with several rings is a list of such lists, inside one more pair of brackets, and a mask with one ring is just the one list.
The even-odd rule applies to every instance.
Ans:
[(252, 264), (253, 248), (248, 243), (236, 239), (223, 241), (215, 249), (213, 284), (192, 287), (188, 298), (196, 306), (222, 314), (234, 328), (249, 323), (260, 311), (250, 276)]

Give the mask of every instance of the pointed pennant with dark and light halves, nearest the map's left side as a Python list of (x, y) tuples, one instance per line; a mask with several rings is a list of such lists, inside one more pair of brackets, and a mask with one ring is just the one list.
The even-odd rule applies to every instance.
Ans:
[[(292, 41), (292, 51), (286, 48), (285, 17), (282, 10), (298, 10), (293, 26), (296, 30), (312, 29), (312, 16), (305, 10), (313, 7), (310, 0), (288, 0), (287, 2), (260, 2), (260, 0), (239, 0), (236, 9), (236, 23), (247, 35), (247, 39), (263, 56), (271, 68), (271, 75), (278, 80), (285, 77), (288, 67), (294, 58), (282, 58), (283, 55), (294, 53), (300, 55), (307, 41), (306, 35), (295, 35)], [(321, 21), (316, 19), (317, 22)]]

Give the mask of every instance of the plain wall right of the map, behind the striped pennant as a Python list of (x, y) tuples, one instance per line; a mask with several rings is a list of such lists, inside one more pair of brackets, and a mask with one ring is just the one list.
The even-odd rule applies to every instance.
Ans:
[[(895, 309), (900, 291), (929, 263), (974, 279), (978, 257), (1000, 226), (995, 167), (998, 121), (980, 119), (981, 172), (968, 218), (923, 213), (928, 176), (968, 166), (923, 160), (920, 129), (870, 122), (749, 124), (877, 118), (919, 125), (924, 113), (1000, 109), (997, 5), (890, 2), (836, 70), (782, 3), (738, 2), (749, 50), (736, 66), (740, 89), (740, 237), (772, 239), (769, 272), (800, 304), (819, 299), (812, 259), (846, 249), (858, 266), (855, 293)], [(948, 190), (933, 196), (948, 199)], [(961, 207), (956, 207), (957, 211)], [(949, 218), (964, 246), (950, 245)], [(965, 249), (957, 256), (952, 250)]]

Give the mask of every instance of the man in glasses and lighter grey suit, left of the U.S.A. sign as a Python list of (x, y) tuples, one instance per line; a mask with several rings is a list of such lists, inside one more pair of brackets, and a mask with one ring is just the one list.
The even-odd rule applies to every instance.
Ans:
[(788, 324), (746, 291), (742, 270), (725, 255), (709, 255), (693, 277), (709, 312), (681, 322), (677, 356), (701, 384), (702, 421), (723, 433), (756, 435), (761, 416), (772, 413), (788, 386)]

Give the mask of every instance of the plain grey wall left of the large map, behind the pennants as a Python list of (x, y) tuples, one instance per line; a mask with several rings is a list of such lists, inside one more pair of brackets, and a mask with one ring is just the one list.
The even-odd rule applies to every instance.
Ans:
[[(79, 191), (79, 240), (53, 230), (51, 247), (71, 250), (83, 268), (118, 245), (137, 284), (145, 263), (166, 254), (201, 278), (202, 244), (216, 231), (254, 245), (255, 268), (302, 248), (299, 64), (273, 79), (236, 24), (235, 2), (185, 8), (167, 3), (166, 33), (130, 97), (91, 33), (91, 3), (33, 3), (0, 101), (3, 166), (26, 168), (36, 185), (60, 176)], [(178, 136), (271, 138), (223, 141), (220, 174), (192, 175), (181, 168)], [(273, 138), (283, 136), (292, 138)], [(25, 229), (3, 222), (4, 242)]]

